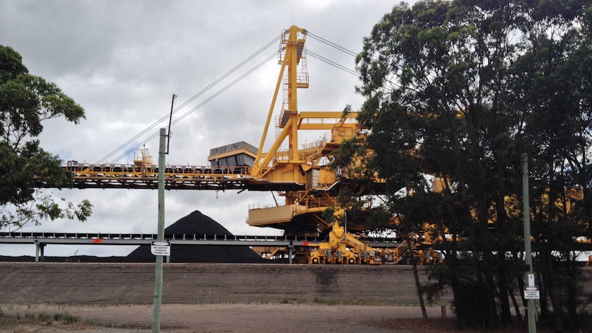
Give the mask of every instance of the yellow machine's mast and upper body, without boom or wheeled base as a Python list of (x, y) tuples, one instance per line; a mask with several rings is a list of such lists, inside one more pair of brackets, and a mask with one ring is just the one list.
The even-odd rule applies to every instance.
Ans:
[[(341, 111), (299, 111), (298, 89), (308, 88), (306, 71), (306, 30), (292, 26), (282, 34), (280, 44), (280, 74), (277, 79), (271, 107), (262, 133), (258, 155), (251, 170), (253, 179), (269, 183), (297, 183), (301, 189), (280, 192), (285, 198), (285, 207), (258, 207), (249, 209), (248, 223), (257, 227), (274, 227), (286, 233), (299, 236), (313, 236), (328, 231), (331, 223), (322, 218), (323, 211), (337, 204), (335, 197), (339, 188), (345, 186), (341, 180), (347, 175), (342, 170), (328, 166), (332, 153), (345, 139), (358, 134), (357, 113)], [(282, 89), (283, 87), (283, 89)], [(275, 124), (280, 133), (269, 151), (264, 152), (265, 140), (274, 113), (277, 95), (284, 91), (284, 102), (280, 117)], [(300, 146), (300, 130), (322, 130), (319, 140)], [(288, 150), (280, 150), (287, 143)], [(347, 186), (354, 186), (355, 182)], [(359, 192), (359, 189), (356, 188)], [(355, 191), (354, 191), (355, 192)], [(287, 214), (290, 214), (289, 216)], [(352, 223), (353, 229), (363, 226)]]

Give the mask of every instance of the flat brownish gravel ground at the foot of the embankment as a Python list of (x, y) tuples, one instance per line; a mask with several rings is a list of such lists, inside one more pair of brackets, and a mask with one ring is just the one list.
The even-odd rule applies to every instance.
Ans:
[[(152, 306), (2, 306), (2, 313), (21, 319), (31, 314), (67, 313), (82, 323), (47, 325), (14, 323), (1, 332), (151, 332)], [(441, 308), (428, 308), (439, 318)], [(163, 304), (161, 332), (422, 332), (396, 328), (394, 319), (421, 317), (415, 306), (330, 306), (321, 304)], [(415, 321), (415, 320), (414, 320)], [(409, 321), (401, 321), (409, 325)], [(424, 331), (429, 332), (429, 331)], [(442, 331), (441, 331), (442, 332)]]

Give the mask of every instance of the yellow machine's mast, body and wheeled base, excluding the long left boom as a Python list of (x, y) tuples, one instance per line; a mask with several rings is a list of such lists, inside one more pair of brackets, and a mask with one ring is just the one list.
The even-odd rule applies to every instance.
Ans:
[[(358, 185), (347, 170), (330, 168), (329, 165), (341, 143), (359, 135), (357, 113), (298, 110), (298, 89), (308, 88), (304, 47), (307, 34), (295, 25), (282, 34), (279, 60), (282, 67), (250, 174), (253, 179), (269, 182), (269, 189), (281, 189), (277, 192), (284, 196), (285, 203), (250, 207), (248, 223), (255, 227), (282, 229), (288, 236), (328, 236), (328, 242), (310, 243), (310, 249), (299, 249), (304, 253), (304, 262), (380, 264), (385, 260), (383, 251), (372, 249), (354, 233), (348, 232), (365, 231), (365, 225), (350, 221), (346, 231), (339, 222), (323, 218), (323, 211), (328, 207), (341, 209), (337, 195), (344, 188), (356, 195), (369, 194), (369, 189)], [(277, 137), (269, 151), (264, 152), (280, 92), (284, 100), (280, 116), (276, 118)], [(300, 146), (299, 133), (310, 130), (321, 131), (319, 139)], [(287, 150), (280, 148), (282, 145), (287, 146)], [(225, 152), (212, 154), (208, 159), (219, 161), (227, 157), (228, 152)]]

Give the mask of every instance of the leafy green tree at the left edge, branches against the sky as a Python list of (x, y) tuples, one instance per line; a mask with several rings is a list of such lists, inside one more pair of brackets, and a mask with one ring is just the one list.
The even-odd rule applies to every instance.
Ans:
[(36, 188), (36, 179), (52, 187), (71, 187), (71, 173), (35, 139), (43, 130), (41, 123), (57, 117), (78, 124), (84, 109), (56, 84), (31, 75), (14, 49), (0, 45), (0, 229), (90, 216), (88, 200), (75, 205), (62, 198), (60, 205)]

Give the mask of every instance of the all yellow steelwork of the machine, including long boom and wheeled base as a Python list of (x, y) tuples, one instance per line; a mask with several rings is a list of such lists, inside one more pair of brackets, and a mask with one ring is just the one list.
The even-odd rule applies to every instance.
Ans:
[[(308, 88), (306, 69), (307, 32), (295, 25), (282, 33), (280, 43), (280, 74), (273, 93), (271, 106), (258, 151), (236, 149), (214, 152), (208, 161), (225, 159), (234, 154), (247, 154), (254, 157), (253, 167), (248, 166), (192, 166), (168, 165), (165, 172), (166, 188), (169, 190), (250, 190), (275, 191), (284, 196), (284, 205), (253, 206), (249, 208), (248, 223), (256, 227), (283, 229), (286, 235), (318, 236), (325, 233), (328, 242), (310, 244), (314, 250), (308, 253), (310, 263), (343, 264), (380, 264), (398, 262), (403, 253), (409, 251), (402, 243), (397, 249), (372, 249), (353, 233), (363, 231), (365, 225), (349, 221), (347, 230), (338, 222), (328, 222), (323, 218), (323, 211), (328, 207), (338, 207), (337, 194), (348, 188), (354, 195), (367, 194), (367, 188), (356, 182), (356, 176), (348, 170), (332, 169), (328, 163), (335, 150), (346, 139), (361, 135), (356, 122), (357, 113), (340, 111), (299, 111), (297, 103), (298, 89)], [(284, 100), (277, 124), (281, 131), (271, 143), (268, 152), (264, 145), (269, 132), (277, 95), (282, 89)], [(299, 130), (328, 131), (315, 142), (299, 146)], [(288, 150), (281, 150), (286, 143)], [(63, 165), (72, 172), (74, 187), (78, 188), (157, 188), (157, 165), (152, 164), (152, 157), (147, 149), (135, 154), (133, 164), (89, 165), (69, 161)], [(429, 173), (429, 171), (426, 171)], [(383, 183), (374, 180), (374, 185)], [(443, 179), (435, 179), (433, 191), (441, 192), (448, 184)], [(38, 179), (39, 187), (49, 186), (43, 179)], [(378, 189), (378, 192), (376, 192)], [(373, 189), (380, 194), (380, 187)], [(581, 190), (569, 192), (569, 198), (578, 199)], [(569, 207), (567, 207), (569, 209)], [(426, 226), (426, 230), (429, 226)], [(424, 240), (429, 244), (438, 240)], [(442, 241), (442, 240), (440, 240)], [(418, 241), (419, 242), (419, 241)], [(413, 244), (412, 244), (413, 246)], [(427, 250), (421, 250), (427, 251)], [(274, 252), (265, 249), (266, 253)], [(422, 255), (415, 251), (413, 254)], [(591, 257), (592, 260), (592, 257)], [(590, 262), (590, 261), (589, 261)]]

